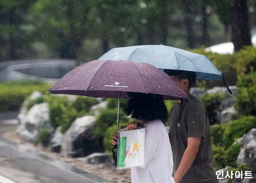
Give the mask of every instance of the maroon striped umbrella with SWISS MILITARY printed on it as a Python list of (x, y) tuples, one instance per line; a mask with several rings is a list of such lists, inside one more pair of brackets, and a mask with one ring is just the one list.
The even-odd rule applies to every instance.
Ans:
[[(128, 98), (127, 92), (160, 94), (164, 100), (189, 100), (164, 72), (147, 63), (94, 60), (71, 70), (48, 89), (52, 94)], [(119, 117), (118, 102), (118, 117)]]

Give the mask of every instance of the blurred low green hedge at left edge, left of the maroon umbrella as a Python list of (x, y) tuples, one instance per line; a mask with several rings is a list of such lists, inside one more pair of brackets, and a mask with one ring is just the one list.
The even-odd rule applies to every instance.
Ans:
[(8, 81), (0, 83), (0, 112), (19, 110), (23, 101), (33, 91), (37, 90), (46, 93), (49, 87), (51, 87), (51, 84), (40, 81)]

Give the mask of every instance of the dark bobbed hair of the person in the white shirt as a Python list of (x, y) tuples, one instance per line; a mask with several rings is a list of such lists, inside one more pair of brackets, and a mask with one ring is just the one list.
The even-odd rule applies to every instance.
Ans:
[(154, 120), (166, 120), (168, 111), (164, 104), (162, 95), (157, 94), (144, 94), (129, 92), (130, 96), (126, 108), (123, 110), (127, 116), (131, 118)]

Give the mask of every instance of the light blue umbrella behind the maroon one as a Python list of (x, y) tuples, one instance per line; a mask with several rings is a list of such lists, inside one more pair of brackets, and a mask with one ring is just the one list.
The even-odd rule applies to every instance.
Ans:
[[(212, 62), (197, 53), (164, 45), (139, 45), (118, 47), (109, 50), (98, 60), (130, 60), (146, 62), (161, 70), (186, 70), (196, 72), (196, 79), (223, 81), (222, 73)], [(232, 93), (226, 85), (230, 94)]]

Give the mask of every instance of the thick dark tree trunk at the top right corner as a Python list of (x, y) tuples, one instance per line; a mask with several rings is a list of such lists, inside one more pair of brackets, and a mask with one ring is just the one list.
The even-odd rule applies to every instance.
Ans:
[(231, 40), (235, 51), (244, 45), (252, 45), (246, 0), (229, 0), (231, 20)]

